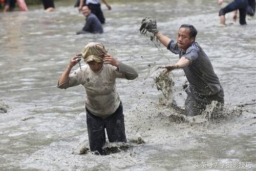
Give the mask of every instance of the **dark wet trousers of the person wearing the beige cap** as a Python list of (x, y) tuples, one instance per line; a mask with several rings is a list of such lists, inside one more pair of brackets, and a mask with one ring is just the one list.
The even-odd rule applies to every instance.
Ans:
[(104, 155), (102, 147), (106, 142), (105, 129), (110, 142), (127, 142), (124, 128), (123, 107), (119, 107), (109, 117), (102, 119), (93, 115), (87, 108), (87, 130), (90, 150)]

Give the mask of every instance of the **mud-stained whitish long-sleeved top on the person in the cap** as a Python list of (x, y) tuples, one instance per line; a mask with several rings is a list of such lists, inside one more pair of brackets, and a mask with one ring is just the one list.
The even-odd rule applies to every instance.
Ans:
[(86, 107), (95, 116), (105, 118), (113, 114), (120, 105), (116, 90), (116, 78), (133, 80), (138, 77), (133, 67), (120, 62), (119, 69), (110, 64), (103, 64), (101, 70), (93, 72), (89, 65), (76, 69), (69, 75), (67, 82), (58, 88), (67, 89), (76, 85), (86, 88)]

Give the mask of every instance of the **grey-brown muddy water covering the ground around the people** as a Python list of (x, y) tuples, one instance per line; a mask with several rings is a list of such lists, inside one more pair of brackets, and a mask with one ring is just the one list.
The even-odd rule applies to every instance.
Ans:
[[(104, 34), (77, 36), (84, 18), (73, 5), (56, 3), (52, 13), (34, 6), (0, 14), (0, 99), (9, 105), (0, 113), (0, 170), (255, 169), (255, 17), (240, 26), (227, 15), (227, 27), (220, 27), (215, 1), (113, 1), (111, 11), (102, 6)], [(171, 38), (183, 23), (197, 28), (225, 91), (225, 117), (170, 117), (176, 112), (160, 103), (155, 68), (178, 58), (139, 34), (145, 16), (155, 17)], [(104, 43), (139, 72), (136, 80), (117, 81), (127, 138), (145, 141), (126, 152), (72, 154), (88, 140), (86, 94), (81, 86), (60, 90), (56, 84), (69, 59), (91, 41)], [(172, 77), (173, 99), (182, 108), (186, 78), (182, 70)]]

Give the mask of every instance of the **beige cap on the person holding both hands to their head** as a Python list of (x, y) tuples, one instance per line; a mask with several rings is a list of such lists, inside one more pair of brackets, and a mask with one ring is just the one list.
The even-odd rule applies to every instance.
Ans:
[(88, 43), (81, 52), (83, 60), (87, 63), (91, 61), (103, 62), (106, 53), (104, 45), (97, 42)]

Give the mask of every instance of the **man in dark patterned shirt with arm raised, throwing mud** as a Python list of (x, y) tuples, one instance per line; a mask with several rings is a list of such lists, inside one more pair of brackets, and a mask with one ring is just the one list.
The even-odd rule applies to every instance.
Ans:
[(195, 41), (197, 30), (194, 26), (182, 25), (177, 33), (177, 42), (175, 42), (157, 30), (155, 19), (147, 17), (141, 23), (141, 34), (145, 34), (147, 31), (153, 33), (169, 51), (180, 56), (177, 63), (159, 68), (165, 69), (164, 74), (174, 69), (183, 68), (189, 82), (189, 86), (185, 90), (187, 93), (185, 115), (201, 114), (206, 105), (212, 101), (218, 101), (218, 106), (223, 106), (223, 88), (209, 58)]

